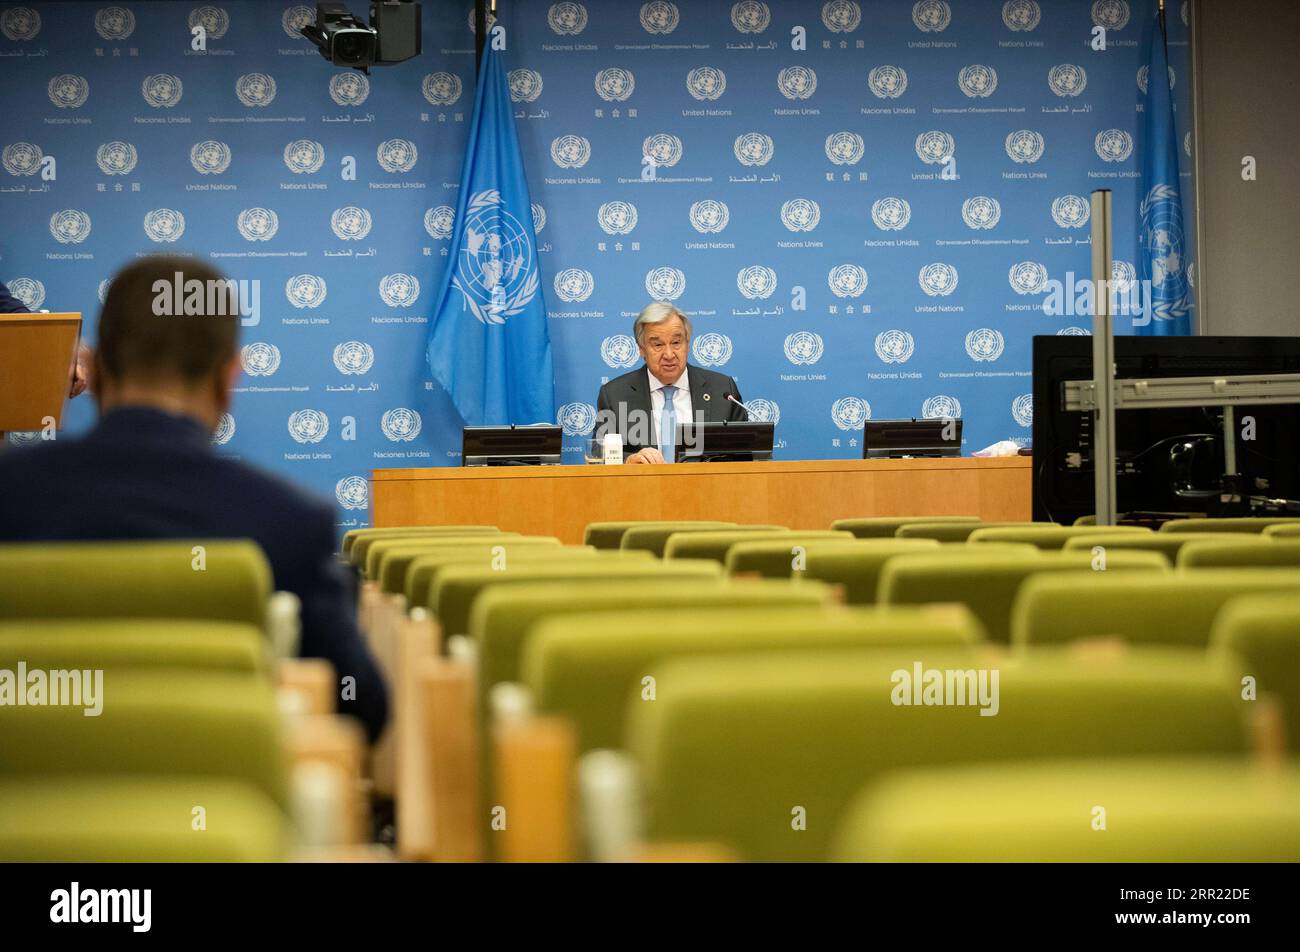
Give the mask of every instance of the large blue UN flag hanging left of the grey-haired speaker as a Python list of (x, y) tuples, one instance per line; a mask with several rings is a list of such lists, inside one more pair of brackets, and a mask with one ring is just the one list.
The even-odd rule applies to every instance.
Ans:
[(469, 121), (429, 369), (468, 425), (552, 423), (555, 375), (528, 181), (491, 38)]

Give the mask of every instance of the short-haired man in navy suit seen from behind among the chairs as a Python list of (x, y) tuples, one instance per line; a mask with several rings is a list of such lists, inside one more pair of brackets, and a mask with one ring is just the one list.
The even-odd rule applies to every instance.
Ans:
[(355, 679), (355, 697), (346, 692), (339, 710), (373, 740), (387, 693), (334, 559), (333, 507), (212, 451), (239, 373), (239, 311), (228, 290), (205, 295), (221, 313), (157, 316), (156, 282), (170, 289), (177, 280), (222, 277), (188, 259), (151, 256), (113, 280), (91, 377), (99, 423), (79, 440), (0, 454), (0, 541), (252, 538), (276, 588), (302, 600), (300, 653)]

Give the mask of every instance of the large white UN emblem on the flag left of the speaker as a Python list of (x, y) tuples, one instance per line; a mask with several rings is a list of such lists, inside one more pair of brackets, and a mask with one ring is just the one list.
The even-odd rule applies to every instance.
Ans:
[(464, 242), (451, 286), (484, 324), (504, 324), (537, 295), (541, 278), (523, 222), (502, 207), (495, 189), (471, 195)]

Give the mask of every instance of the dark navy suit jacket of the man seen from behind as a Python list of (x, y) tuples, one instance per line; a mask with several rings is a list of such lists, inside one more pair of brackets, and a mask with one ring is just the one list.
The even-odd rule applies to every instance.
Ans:
[(79, 440), (0, 451), (0, 541), (203, 537), (263, 548), (276, 588), (303, 602), (302, 655), (356, 679), (339, 710), (377, 737), (387, 692), (334, 559), (329, 503), (216, 455), (199, 421), (144, 407), (110, 411)]

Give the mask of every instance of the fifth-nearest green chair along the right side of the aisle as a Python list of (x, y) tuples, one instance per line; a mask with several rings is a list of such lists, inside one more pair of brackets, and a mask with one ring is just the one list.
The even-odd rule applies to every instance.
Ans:
[(443, 635), (467, 635), (474, 600), (491, 587), (551, 583), (556, 589), (568, 581), (604, 580), (611, 585), (642, 581), (650, 590), (667, 592), (680, 581), (720, 579), (723, 567), (697, 559), (592, 558), (568, 563), (520, 563), (506, 571), (480, 566), (446, 566), (430, 585), (428, 606), (442, 624)]

